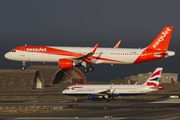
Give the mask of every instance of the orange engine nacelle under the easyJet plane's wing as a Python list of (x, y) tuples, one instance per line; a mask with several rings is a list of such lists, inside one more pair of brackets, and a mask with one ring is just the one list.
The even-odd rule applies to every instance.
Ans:
[(73, 60), (70, 59), (59, 59), (59, 67), (65, 69), (72, 69), (74, 67)]

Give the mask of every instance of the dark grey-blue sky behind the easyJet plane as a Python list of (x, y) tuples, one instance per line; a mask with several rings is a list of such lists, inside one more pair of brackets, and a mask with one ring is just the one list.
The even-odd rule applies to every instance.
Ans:
[(0, 69), (20, 69), (21, 62), (7, 60), (4, 54), (25, 44), (114, 47), (121, 39), (121, 48), (144, 48), (165, 26), (174, 26), (169, 50), (175, 56), (132, 65), (93, 65), (94, 72), (84, 75), (87, 81), (103, 82), (153, 72), (156, 67), (180, 73), (179, 4), (178, 0), (1, 0)]

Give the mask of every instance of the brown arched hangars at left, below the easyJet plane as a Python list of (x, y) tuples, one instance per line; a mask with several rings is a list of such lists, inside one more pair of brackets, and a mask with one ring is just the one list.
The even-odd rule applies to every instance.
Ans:
[(61, 83), (86, 84), (83, 73), (77, 69), (34, 65), (21, 69), (0, 69), (0, 90), (43, 89)]

